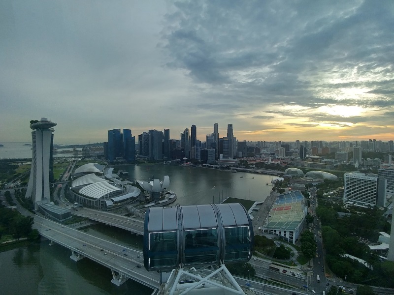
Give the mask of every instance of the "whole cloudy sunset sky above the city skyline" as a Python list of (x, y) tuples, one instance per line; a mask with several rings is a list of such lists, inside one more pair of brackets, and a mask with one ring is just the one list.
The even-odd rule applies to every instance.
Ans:
[(392, 0), (2, 0), (0, 143), (394, 140)]

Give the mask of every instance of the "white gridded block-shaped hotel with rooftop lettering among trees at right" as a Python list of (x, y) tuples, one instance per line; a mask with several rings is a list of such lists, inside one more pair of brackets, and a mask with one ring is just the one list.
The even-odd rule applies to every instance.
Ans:
[(385, 207), (386, 184), (387, 180), (383, 177), (358, 172), (345, 173), (343, 203), (352, 201)]

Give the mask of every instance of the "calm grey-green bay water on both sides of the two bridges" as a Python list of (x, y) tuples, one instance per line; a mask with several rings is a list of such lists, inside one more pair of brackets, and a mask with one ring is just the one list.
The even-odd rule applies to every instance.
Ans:
[[(219, 203), (226, 197), (264, 201), (272, 189), (271, 176), (230, 173), (206, 168), (169, 165), (131, 165), (120, 169), (129, 171), (131, 180), (147, 180), (152, 175), (170, 177), (169, 189), (177, 194), (181, 205)], [(175, 203), (175, 204), (176, 204)], [(130, 247), (142, 249), (142, 236), (132, 235), (115, 227), (96, 225), (83, 230)], [(115, 294), (148, 295), (152, 290), (128, 280), (116, 287), (110, 269), (89, 259), (72, 261), (71, 251), (60, 246), (49, 246), (42, 239), (38, 245), (21, 247), (0, 253), (0, 294)]]

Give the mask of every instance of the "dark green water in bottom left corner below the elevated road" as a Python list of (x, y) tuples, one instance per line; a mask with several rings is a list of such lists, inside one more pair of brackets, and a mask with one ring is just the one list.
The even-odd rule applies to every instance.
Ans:
[(0, 253), (0, 294), (148, 295), (152, 290), (128, 280), (113, 285), (109, 268), (89, 259), (75, 263), (71, 251), (60, 245), (40, 244)]

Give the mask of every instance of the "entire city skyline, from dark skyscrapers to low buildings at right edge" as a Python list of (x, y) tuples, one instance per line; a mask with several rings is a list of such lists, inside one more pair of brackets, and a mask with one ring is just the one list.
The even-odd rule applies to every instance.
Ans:
[[(110, 163), (135, 161), (135, 156), (152, 161), (197, 160), (208, 164), (218, 160), (242, 158), (269, 154), (271, 156), (304, 160), (313, 156), (325, 156), (335, 152), (335, 161), (328, 160), (324, 164), (347, 163), (367, 166), (379, 166), (378, 159), (362, 159), (362, 151), (394, 151), (393, 141), (299, 141), (266, 142), (237, 141), (233, 134), (232, 124), (227, 125), (226, 136), (219, 137), (219, 124), (213, 124), (213, 132), (207, 134), (205, 141), (197, 139), (197, 126), (192, 125), (181, 132), (179, 139), (170, 138), (170, 130), (150, 129), (138, 135), (131, 135), (130, 129), (114, 129), (108, 131), (108, 142), (104, 143), (104, 155)], [(348, 159), (349, 152), (353, 156)], [(316, 167), (320, 168), (320, 167)], [(329, 168), (329, 167), (328, 167)]]

